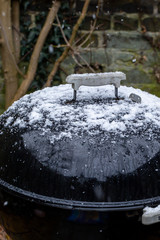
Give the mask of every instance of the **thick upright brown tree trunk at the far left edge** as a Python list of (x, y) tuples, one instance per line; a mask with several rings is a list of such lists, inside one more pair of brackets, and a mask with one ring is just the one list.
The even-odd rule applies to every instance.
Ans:
[[(10, 48), (12, 54), (14, 55), (11, 23), (11, 0), (0, 0), (0, 20), (2, 24), (1, 36), (3, 39), (1, 45), (2, 46), (1, 54), (2, 54), (2, 67), (5, 79), (5, 108), (8, 108), (18, 87), (17, 70), (15, 68), (15, 64), (9, 52)], [(4, 31), (2, 31), (2, 27)]]

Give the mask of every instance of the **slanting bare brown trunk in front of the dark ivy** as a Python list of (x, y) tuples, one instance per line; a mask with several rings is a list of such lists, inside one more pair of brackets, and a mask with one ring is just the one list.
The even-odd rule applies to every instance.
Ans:
[(60, 5), (61, 5), (60, 1), (53, 2), (53, 5), (52, 5), (52, 7), (48, 13), (47, 19), (45, 21), (45, 24), (40, 32), (40, 35), (39, 35), (36, 45), (34, 47), (26, 78), (23, 80), (21, 86), (17, 90), (17, 92), (13, 98), (13, 102), (18, 100), (20, 97), (22, 97), (26, 93), (26, 91), (28, 90), (30, 84), (32, 83), (32, 81), (34, 79), (34, 76), (35, 76), (36, 70), (37, 70), (37, 66), (38, 66), (38, 59), (39, 59), (40, 52), (42, 50), (42, 47), (46, 40), (46, 37), (47, 37), (50, 29), (52, 28), (54, 19), (56, 17), (56, 14), (59, 10)]

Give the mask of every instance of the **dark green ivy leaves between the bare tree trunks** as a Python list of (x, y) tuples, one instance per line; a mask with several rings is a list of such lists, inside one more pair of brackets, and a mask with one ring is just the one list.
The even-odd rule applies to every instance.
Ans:
[[(32, 6), (32, 1), (21, 1), (21, 33), (23, 34), (21, 40), (21, 61), (29, 63), (31, 54), (33, 52), (34, 45), (36, 43), (37, 37), (45, 22), (48, 11), (39, 11), (34, 13), (34, 22), (31, 21), (30, 8)], [(71, 35), (71, 26), (68, 23), (67, 13), (69, 12), (69, 5), (67, 2), (63, 3), (59, 12), (58, 17), (60, 19), (65, 36), (69, 39)], [(32, 14), (33, 14), (32, 13)], [(56, 23), (56, 22), (55, 22)], [(53, 25), (44, 47), (40, 53), (39, 64), (35, 79), (30, 87), (30, 91), (40, 89), (47, 80), (47, 76), (53, 67), (56, 59), (61, 55), (64, 50), (65, 45), (63, 36), (61, 34), (60, 28)], [(61, 83), (59, 72), (54, 78), (53, 85)]]

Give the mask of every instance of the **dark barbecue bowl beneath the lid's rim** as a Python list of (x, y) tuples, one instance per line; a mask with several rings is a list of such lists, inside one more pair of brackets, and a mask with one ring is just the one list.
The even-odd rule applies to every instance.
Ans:
[(144, 226), (139, 214), (56, 209), (0, 191), (0, 224), (13, 240), (159, 239), (160, 224)]

